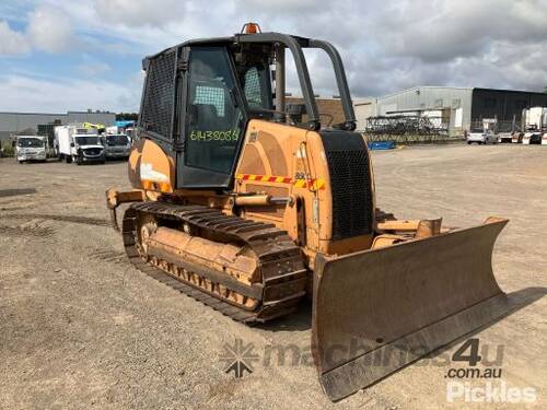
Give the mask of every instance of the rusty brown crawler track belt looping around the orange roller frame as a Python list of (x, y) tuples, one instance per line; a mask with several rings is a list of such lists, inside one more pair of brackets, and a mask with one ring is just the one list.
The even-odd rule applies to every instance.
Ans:
[[(200, 233), (207, 231), (209, 235), (222, 242), (244, 243), (252, 247), (259, 258), (264, 277), (263, 295), (268, 286), (279, 283), (294, 283), (294, 290), (289, 296), (283, 295), (279, 301), (269, 301), (267, 305), (260, 304), (255, 311), (248, 311), (238, 305), (225, 302), (213, 293), (176, 278), (162, 269), (147, 262), (139, 254), (136, 242), (138, 241), (137, 220), (139, 213), (153, 214), (159, 219), (178, 220), (189, 223)], [(167, 202), (138, 202), (132, 203), (125, 212), (121, 224), (121, 235), (126, 254), (131, 263), (149, 277), (182, 292), (186, 295), (219, 311), (234, 320), (252, 324), (264, 323), (294, 312), (298, 303), (305, 295), (306, 269), (300, 248), (292, 242), (284, 231), (276, 229), (272, 224), (245, 220), (238, 216), (229, 216), (220, 210), (203, 206), (181, 206)], [(299, 267), (294, 271), (279, 271), (276, 265), (279, 261), (291, 267)], [(272, 271), (278, 272), (271, 274)], [(265, 272), (270, 272), (265, 274)], [(292, 285), (291, 285), (292, 288)]]

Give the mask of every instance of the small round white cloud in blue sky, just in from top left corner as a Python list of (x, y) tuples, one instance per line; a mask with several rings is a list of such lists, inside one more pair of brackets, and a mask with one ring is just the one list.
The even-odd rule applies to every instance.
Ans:
[(47, 52), (67, 51), (77, 44), (70, 17), (49, 5), (30, 13), (26, 35), (34, 47)]

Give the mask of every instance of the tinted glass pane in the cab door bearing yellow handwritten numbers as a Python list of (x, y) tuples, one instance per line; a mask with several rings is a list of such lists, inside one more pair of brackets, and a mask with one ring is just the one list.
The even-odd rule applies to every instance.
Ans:
[(195, 47), (189, 62), (186, 165), (229, 174), (243, 137), (243, 116), (228, 52), (222, 47)]

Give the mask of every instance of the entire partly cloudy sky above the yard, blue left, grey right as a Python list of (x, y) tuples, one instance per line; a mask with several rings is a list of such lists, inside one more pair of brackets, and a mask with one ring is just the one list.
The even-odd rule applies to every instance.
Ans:
[[(246, 21), (334, 43), (354, 97), (547, 85), (547, 0), (2, 0), (0, 110), (138, 110), (143, 56)], [(321, 57), (309, 55), (312, 81), (329, 96)]]

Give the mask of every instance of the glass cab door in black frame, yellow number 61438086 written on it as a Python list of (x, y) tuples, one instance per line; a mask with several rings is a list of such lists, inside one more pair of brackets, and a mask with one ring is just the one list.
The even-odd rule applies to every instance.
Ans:
[(191, 47), (183, 86), (177, 188), (228, 188), (233, 180), (244, 110), (225, 47)]

